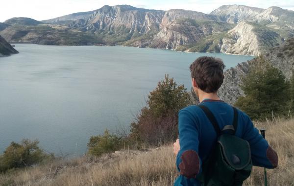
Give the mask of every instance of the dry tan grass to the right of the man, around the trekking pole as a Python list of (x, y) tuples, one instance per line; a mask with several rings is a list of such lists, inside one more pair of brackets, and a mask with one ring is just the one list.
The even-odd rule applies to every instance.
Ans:
[[(267, 169), (269, 186), (294, 186), (294, 119), (285, 121), (276, 118), (273, 121), (255, 122), (258, 128), (266, 128), (266, 139), (279, 157), (278, 167)], [(264, 169), (254, 167), (245, 186), (264, 185)]]

